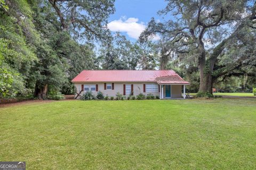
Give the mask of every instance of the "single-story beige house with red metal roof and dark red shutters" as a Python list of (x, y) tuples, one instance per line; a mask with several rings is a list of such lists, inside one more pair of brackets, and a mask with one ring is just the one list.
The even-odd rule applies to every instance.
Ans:
[(126, 97), (142, 93), (161, 99), (185, 98), (185, 86), (189, 84), (173, 70), (84, 70), (72, 82), (75, 98), (86, 91), (94, 95), (101, 91), (109, 97), (116, 97), (119, 92)]

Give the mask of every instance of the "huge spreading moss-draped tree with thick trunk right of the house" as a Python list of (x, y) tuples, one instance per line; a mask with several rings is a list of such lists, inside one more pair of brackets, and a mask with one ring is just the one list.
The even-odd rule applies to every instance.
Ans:
[(170, 0), (159, 14), (171, 19), (151, 19), (140, 40), (161, 35), (164, 63), (173, 54), (195, 61), (199, 91), (212, 93), (219, 77), (235, 75), (245, 65), (255, 66), (255, 11), (253, 1)]

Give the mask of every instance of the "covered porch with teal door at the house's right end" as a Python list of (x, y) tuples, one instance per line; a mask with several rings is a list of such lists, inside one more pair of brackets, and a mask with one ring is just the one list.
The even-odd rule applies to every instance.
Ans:
[(185, 99), (186, 84), (159, 84), (160, 99)]

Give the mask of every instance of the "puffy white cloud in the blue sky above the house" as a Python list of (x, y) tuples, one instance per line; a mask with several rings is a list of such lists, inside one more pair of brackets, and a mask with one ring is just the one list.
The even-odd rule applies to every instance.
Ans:
[[(125, 32), (131, 38), (138, 39), (140, 33), (145, 30), (146, 25), (143, 22), (139, 22), (138, 18), (128, 18), (122, 16), (119, 20), (114, 20), (108, 23), (108, 29), (111, 31)], [(153, 40), (159, 39), (158, 36)]]

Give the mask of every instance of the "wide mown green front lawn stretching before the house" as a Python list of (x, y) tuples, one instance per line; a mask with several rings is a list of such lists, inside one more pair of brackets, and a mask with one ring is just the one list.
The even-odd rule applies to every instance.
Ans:
[(27, 169), (255, 169), (256, 100), (66, 100), (0, 108)]

